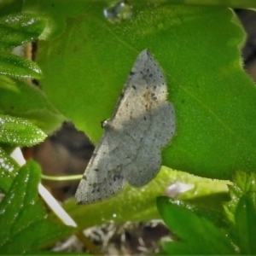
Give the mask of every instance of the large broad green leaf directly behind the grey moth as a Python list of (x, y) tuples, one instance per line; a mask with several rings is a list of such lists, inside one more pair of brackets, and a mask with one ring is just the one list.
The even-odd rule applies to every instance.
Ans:
[(163, 164), (205, 177), (255, 172), (256, 89), (241, 67), (244, 32), (232, 11), (134, 4), (131, 19), (112, 24), (105, 7), (90, 3), (60, 38), (39, 44), (41, 84), (61, 113), (98, 141), (133, 62), (148, 48), (166, 73), (177, 115)]

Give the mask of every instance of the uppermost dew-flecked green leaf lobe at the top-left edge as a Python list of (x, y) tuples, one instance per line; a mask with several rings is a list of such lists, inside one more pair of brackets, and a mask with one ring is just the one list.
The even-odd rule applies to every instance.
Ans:
[(12, 14), (0, 18), (0, 51), (31, 42), (44, 31), (46, 20), (38, 15)]

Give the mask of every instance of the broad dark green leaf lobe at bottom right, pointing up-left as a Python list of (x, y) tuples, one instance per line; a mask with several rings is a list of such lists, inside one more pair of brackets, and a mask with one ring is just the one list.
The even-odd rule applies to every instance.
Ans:
[(236, 253), (230, 238), (207, 218), (196, 215), (188, 207), (173, 204), (167, 197), (158, 198), (157, 206), (165, 223), (180, 240), (166, 244), (166, 252), (172, 255)]

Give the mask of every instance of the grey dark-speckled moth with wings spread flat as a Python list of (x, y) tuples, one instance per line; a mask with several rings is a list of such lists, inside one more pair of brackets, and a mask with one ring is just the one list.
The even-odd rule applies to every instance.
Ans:
[(166, 102), (160, 65), (144, 49), (131, 68), (113, 116), (103, 123), (97, 144), (76, 192), (79, 204), (116, 195), (124, 181), (140, 187), (160, 170), (160, 149), (175, 132), (175, 112)]

